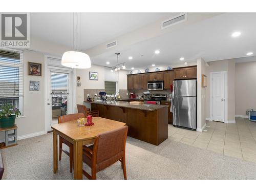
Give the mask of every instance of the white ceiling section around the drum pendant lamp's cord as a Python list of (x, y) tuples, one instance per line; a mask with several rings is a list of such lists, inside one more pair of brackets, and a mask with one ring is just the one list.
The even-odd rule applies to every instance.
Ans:
[[(169, 13), (78, 13), (79, 49), (87, 50), (113, 40), (167, 14)], [(56, 44), (74, 47), (73, 26), (73, 13), (30, 14), (31, 36)]]

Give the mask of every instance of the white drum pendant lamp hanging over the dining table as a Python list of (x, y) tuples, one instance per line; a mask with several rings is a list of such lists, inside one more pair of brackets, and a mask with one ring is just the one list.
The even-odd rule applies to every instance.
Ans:
[[(82, 27), (82, 26), (81, 26)], [(76, 69), (91, 68), (91, 59), (86, 53), (78, 52), (77, 44), (77, 13), (76, 13), (76, 51), (67, 51), (63, 53), (61, 58), (61, 65)]]

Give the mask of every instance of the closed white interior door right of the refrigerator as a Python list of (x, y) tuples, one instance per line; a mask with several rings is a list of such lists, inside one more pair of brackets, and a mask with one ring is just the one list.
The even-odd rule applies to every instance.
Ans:
[(210, 112), (212, 121), (227, 121), (226, 71), (210, 73)]

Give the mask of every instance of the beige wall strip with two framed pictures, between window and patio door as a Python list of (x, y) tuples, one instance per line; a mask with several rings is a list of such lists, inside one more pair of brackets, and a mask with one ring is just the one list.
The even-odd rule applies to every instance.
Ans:
[[(28, 75), (28, 62), (42, 63), (42, 76)], [(38, 52), (24, 51), (24, 117), (16, 119), (18, 126), (17, 135), (27, 136), (30, 134), (44, 134), (45, 131), (45, 55)], [(29, 81), (36, 80), (40, 83), (39, 91), (29, 91)], [(1, 132), (0, 139), (4, 139), (4, 133)]]

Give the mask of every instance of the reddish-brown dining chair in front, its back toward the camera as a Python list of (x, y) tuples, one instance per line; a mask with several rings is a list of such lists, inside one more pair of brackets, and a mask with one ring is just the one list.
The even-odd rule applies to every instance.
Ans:
[(100, 170), (121, 161), (123, 177), (126, 177), (125, 165), (125, 143), (128, 126), (99, 134), (93, 145), (83, 146), (83, 162), (92, 169), (92, 175), (89, 175), (84, 169), (83, 175), (88, 179), (96, 179), (96, 173)]

